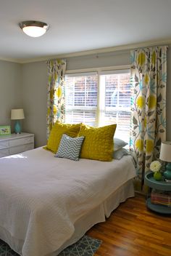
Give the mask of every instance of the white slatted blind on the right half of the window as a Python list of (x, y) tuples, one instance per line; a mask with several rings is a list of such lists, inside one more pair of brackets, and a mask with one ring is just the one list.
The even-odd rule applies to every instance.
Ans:
[(130, 137), (130, 71), (101, 74), (102, 99), (99, 124), (117, 124), (116, 137), (129, 142)]

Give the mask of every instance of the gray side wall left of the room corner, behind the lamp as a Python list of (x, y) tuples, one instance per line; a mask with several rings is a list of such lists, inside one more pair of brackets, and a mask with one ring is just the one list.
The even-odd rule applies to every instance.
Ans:
[(21, 65), (0, 60), (0, 125), (12, 125), (10, 111), (22, 108)]

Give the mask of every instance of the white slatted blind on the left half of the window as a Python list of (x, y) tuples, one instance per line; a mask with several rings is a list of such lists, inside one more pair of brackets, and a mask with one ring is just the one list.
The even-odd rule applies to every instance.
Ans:
[(97, 111), (97, 74), (65, 76), (65, 122), (94, 126)]

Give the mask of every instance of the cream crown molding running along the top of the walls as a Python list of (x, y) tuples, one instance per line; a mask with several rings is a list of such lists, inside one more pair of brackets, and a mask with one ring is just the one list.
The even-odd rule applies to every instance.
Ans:
[(141, 47), (152, 47), (152, 46), (164, 45), (164, 44), (171, 44), (171, 39), (160, 40), (160, 41), (144, 41), (137, 44), (123, 44), (116, 47), (106, 47), (106, 48), (92, 49), (92, 50), (82, 51), (82, 52), (70, 52), (70, 53), (61, 54), (61, 55), (50, 55), (50, 56), (26, 58), (26, 59), (10, 59), (10, 58), (8, 59), (0, 56), (0, 60), (5, 60), (5, 61), (19, 63), (19, 64), (26, 64), (26, 63), (35, 63), (40, 61), (52, 60), (52, 59), (80, 57), (83, 55), (98, 55), (106, 52), (130, 50), (130, 49), (141, 48)]

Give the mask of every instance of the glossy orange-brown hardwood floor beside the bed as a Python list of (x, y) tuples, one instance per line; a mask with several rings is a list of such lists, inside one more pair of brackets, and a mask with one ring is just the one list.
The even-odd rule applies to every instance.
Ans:
[(171, 217), (146, 209), (141, 195), (120, 204), (87, 234), (103, 241), (94, 256), (171, 255)]

